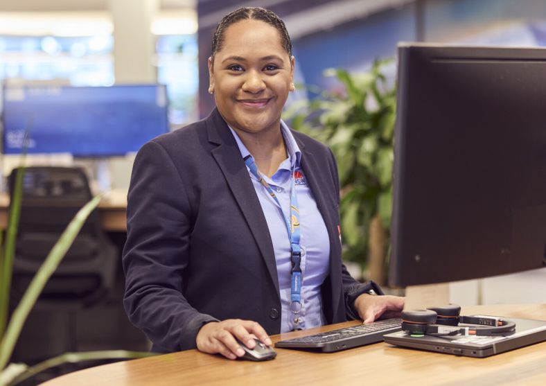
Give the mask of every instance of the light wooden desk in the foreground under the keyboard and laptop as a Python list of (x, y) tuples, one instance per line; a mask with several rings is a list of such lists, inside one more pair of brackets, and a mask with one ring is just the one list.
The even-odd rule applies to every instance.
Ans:
[[(463, 313), (546, 319), (546, 304), (464, 307)], [(273, 340), (357, 323), (276, 335)], [(42, 385), (546, 385), (546, 342), (489, 358), (400, 349), (386, 343), (337, 353), (276, 351), (276, 359), (266, 362), (182, 351), (92, 367)]]

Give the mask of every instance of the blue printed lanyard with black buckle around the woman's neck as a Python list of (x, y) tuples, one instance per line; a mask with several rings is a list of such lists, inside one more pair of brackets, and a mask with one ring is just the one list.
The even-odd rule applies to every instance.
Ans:
[[(292, 270), (290, 271), (290, 310), (292, 313), (297, 314), (301, 310), (301, 247), (299, 246), (299, 206), (296, 195), (296, 188), (294, 186), (294, 172), (295, 164), (292, 166), (292, 176), (290, 182), (290, 216), (285, 216), (283, 208), (279, 199), (269, 184), (262, 177), (258, 170), (258, 167), (254, 163), (254, 159), (251, 155), (245, 157), (245, 164), (250, 169), (250, 173), (254, 175), (261, 182), (267, 193), (270, 193), (271, 197), (275, 200), (277, 207), (281, 210), (283, 218), (286, 224), (286, 230), (288, 231), (288, 239), (290, 240), (290, 258), (292, 261)], [(294, 319), (297, 324), (298, 319)]]

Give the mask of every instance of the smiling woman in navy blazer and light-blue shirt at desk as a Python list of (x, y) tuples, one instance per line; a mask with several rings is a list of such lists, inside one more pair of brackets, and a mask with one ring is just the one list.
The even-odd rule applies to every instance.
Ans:
[(281, 121), (292, 44), (263, 8), (224, 17), (213, 37), (203, 121), (146, 143), (127, 204), (125, 309), (154, 351), (235, 359), (252, 334), (398, 313), (403, 298), (355, 281), (341, 261), (331, 151)]

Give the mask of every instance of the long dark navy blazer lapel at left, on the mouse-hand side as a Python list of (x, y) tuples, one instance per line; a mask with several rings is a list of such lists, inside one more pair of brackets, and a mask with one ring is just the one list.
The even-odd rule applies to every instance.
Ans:
[(233, 193), (240, 210), (245, 216), (252, 236), (258, 244), (262, 256), (270, 272), (276, 293), (279, 294), (279, 277), (276, 271), (276, 261), (273, 243), (263, 210), (254, 191), (254, 186), (249, 178), (247, 166), (240, 155), (237, 143), (229, 131), (227, 124), (218, 112), (214, 109), (209, 118), (206, 119), (206, 129), (209, 141), (216, 146), (211, 153), (224, 174), (231, 193)]

